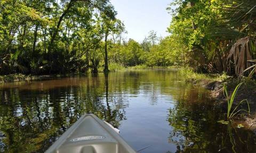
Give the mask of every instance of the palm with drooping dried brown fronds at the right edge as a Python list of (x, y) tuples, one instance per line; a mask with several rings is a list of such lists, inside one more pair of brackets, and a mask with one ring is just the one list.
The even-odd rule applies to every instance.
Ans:
[(250, 60), (256, 58), (256, 1), (221, 0), (226, 13), (227, 26), (239, 31), (236, 42), (231, 47), (228, 59), (233, 57), (236, 75), (252, 66)]

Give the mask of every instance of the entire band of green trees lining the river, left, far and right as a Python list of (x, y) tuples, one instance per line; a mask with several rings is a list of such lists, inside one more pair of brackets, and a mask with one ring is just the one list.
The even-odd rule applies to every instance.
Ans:
[(256, 58), (255, 5), (175, 0), (167, 8), (170, 36), (150, 31), (138, 43), (123, 38), (124, 25), (108, 0), (3, 0), (0, 74), (98, 73), (99, 67), (108, 72), (110, 63), (248, 75)]

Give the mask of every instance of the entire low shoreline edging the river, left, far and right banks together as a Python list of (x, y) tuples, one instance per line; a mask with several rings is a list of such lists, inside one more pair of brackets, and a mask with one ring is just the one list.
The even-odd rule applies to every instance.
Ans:
[[(146, 70), (146, 69), (170, 69), (177, 71), (177, 77), (181, 80), (189, 83), (193, 83), (194, 85), (199, 85), (205, 87), (210, 91), (210, 95), (214, 98), (220, 107), (223, 110), (226, 110), (227, 102), (225, 96), (223, 96), (223, 84), (227, 84), (229, 95), (234, 91), (241, 80), (232, 78), (227, 76), (226, 74), (198, 74), (195, 73), (190, 68), (178, 68), (178, 67), (147, 67), (147, 66), (135, 66), (124, 68), (122, 66), (111, 65), (109, 67), (111, 71), (129, 71), (129, 70)], [(22, 74), (14, 74), (14, 75), (6, 75), (0, 76), (0, 83), (6, 82), (20, 82), (20, 81), (33, 81), (33, 80), (45, 80), (45, 79), (53, 79), (66, 77), (70, 75), (77, 74), (69, 74), (69, 75), (43, 75), (43, 76), (32, 76), (32, 75), (22, 75)], [(83, 74), (85, 75), (85, 74)], [(236, 122), (239, 124), (243, 124), (244, 127), (250, 128), (251, 130), (256, 130), (256, 82), (253, 80), (242, 80), (244, 85), (241, 86), (240, 90), (237, 93), (235, 98), (235, 104), (238, 104), (239, 101), (247, 99), (250, 104), (251, 114), (244, 114)]]

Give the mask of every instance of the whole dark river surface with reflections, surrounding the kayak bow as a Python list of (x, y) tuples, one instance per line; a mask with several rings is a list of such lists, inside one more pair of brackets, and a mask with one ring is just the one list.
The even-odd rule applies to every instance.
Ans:
[(0, 85), (0, 152), (43, 152), (84, 113), (119, 128), (140, 152), (256, 152), (256, 135), (217, 123), (203, 88), (169, 70)]

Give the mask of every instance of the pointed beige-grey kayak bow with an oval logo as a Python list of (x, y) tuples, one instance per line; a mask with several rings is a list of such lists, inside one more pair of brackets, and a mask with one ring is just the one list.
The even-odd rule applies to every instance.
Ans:
[(83, 115), (46, 153), (135, 153), (119, 134), (93, 114)]

